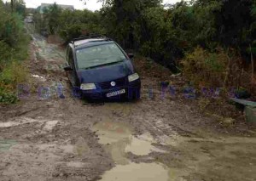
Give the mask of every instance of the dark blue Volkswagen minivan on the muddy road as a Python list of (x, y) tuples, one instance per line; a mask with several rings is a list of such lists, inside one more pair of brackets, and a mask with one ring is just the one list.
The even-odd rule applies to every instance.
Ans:
[(140, 99), (141, 81), (125, 54), (108, 37), (83, 37), (67, 46), (67, 72), (73, 93), (85, 99)]

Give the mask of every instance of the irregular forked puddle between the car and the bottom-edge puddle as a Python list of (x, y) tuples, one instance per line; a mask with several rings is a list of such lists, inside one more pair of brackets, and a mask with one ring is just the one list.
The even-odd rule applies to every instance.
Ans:
[(93, 127), (93, 130), (99, 136), (99, 143), (104, 145), (113, 161), (119, 165), (130, 163), (125, 157), (127, 152), (137, 156), (147, 156), (153, 151), (164, 152), (152, 145), (156, 141), (149, 133), (135, 137), (132, 135), (131, 127), (124, 123), (99, 122)]

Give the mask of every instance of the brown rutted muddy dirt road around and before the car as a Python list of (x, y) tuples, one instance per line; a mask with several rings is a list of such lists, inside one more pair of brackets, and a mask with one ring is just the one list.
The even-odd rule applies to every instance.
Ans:
[(1, 181), (256, 180), (255, 136), (219, 133), (157, 90), (149, 99), (154, 78), (142, 78), (138, 102), (91, 105), (72, 96), (64, 50), (33, 35), (30, 52), (22, 100), (0, 105)]

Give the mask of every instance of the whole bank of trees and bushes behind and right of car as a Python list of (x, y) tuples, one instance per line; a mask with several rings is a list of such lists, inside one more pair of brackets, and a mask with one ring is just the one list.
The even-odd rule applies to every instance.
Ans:
[(256, 3), (252, 0), (182, 1), (166, 8), (160, 0), (104, 0), (96, 12), (62, 10), (54, 4), (44, 8), (43, 18), (38, 9), (36, 22), (38, 31), (46, 28), (65, 41), (105, 34), (174, 73), (183, 70), (197, 88), (255, 91)]

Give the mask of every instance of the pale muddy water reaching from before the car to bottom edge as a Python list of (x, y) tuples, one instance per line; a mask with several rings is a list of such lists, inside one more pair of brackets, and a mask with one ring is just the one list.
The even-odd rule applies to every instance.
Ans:
[(99, 143), (104, 145), (105, 150), (117, 164), (103, 175), (102, 180), (169, 180), (169, 171), (163, 165), (132, 163), (125, 157), (128, 152), (137, 156), (147, 156), (153, 151), (164, 152), (152, 145), (156, 141), (149, 133), (135, 137), (132, 135), (133, 131), (129, 125), (110, 120), (97, 123), (93, 130), (99, 136)]

